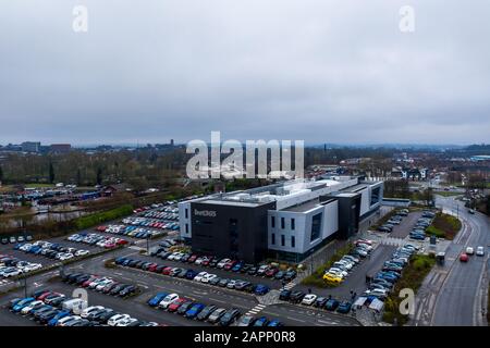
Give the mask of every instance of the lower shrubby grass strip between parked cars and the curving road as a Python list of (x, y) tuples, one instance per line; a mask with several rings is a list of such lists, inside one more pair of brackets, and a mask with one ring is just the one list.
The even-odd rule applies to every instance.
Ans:
[(417, 254), (413, 257), (409, 264), (403, 270), (402, 276), (393, 288), (391, 295), (384, 301), (383, 321), (396, 325), (404, 325), (408, 322), (408, 315), (400, 313), (400, 302), (403, 298), (399, 297), (402, 289), (408, 288), (417, 294), (427, 274), (436, 264), (434, 256)]

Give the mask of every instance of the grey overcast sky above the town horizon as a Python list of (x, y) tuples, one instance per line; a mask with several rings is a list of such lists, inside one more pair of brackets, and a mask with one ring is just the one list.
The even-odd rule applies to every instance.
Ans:
[[(415, 33), (399, 29), (405, 4)], [(488, 0), (2, 0), (0, 144), (490, 142), (489, 14)]]

